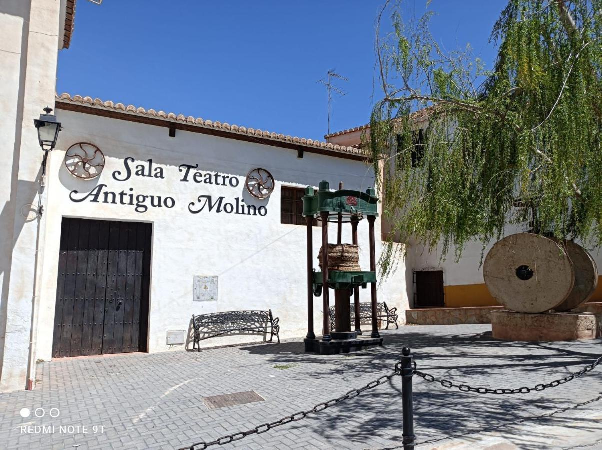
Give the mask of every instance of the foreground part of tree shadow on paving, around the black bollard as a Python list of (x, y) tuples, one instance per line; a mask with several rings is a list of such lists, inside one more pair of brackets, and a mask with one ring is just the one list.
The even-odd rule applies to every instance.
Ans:
[[(365, 445), (367, 442), (387, 440), (399, 442), (399, 445), (383, 446), (383, 449), (401, 449), (402, 410), (401, 382), (394, 381), (391, 386), (381, 387), (350, 403), (343, 403), (328, 410), (308, 416), (311, 430), (325, 439), (353, 442)], [(587, 402), (566, 406), (566, 401), (550, 398), (496, 399), (496, 401), (475, 402), (474, 394), (430, 391), (427, 395), (414, 398), (415, 434), (417, 445), (442, 442), (448, 439), (467, 437), (491, 431), (502, 432), (521, 449), (542, 448), (542, 442), (550, 439), (547, 433), (539, 433), (533, 428), (528, 431), (518, 425), (537, 424), (562, 427), (573, 430), (569, 433), (587, 433), (600, 431), (598, 419), (573, 418), (559, 416), (569, 410), (576, 410), (592, 402), (598, 402), (602, 395)], [(534, 414), (533, 410), (537, 410)], [(303, 421), (305, 422), (305, 421)], [(301, 422), (296, 428), (307, 427)], [(343, 425), (343, 426), (342, 426)], [(371, 448), (374, 448), (372, 445)]]

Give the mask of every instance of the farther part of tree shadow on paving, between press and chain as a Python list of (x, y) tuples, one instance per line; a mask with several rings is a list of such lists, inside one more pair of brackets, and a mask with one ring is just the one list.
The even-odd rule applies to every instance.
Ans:
[[(491, 331), (486, 333), (432, 334), (426, 331), (402, 330), (381, 333), (385, 345), (361, 352), (337, 356), (317, 356), (303, 351), (303, 342), (282, 342), (281, 344), (253, 345), (241, 348), (250, 354), (268, 357), (269, 362), (298, 363), (341, 366), (324, 368), (309, 374), (310, 377), (338, 374), (347, 371), (350, 366), (356, 373), (374, 373), (386, 369), (393, 370), (399, 362), (402, 348), (410, 347), (414, 360), (420, 370), (437, 369), (453, 371), (455, 375), (483, 375), (486, 377), (492, 369), (556, 369), (568, 371), (577, 366), (586, 365), (600, 357), (592, 353), (592, 341), (582, 341), (588, 348), (581, 350), (582, 342), (506, 342), (493, 339)], [(495, 348), (492, 351), (492, 347)], [(602, 354), (602, 352), (600, 352)], [(484, 361), (494, 359), (495, 363)], [(444, 359), (444, 365), (438, 362)], [(556, 360), (550, 360), (556, 359)], [(562, 360), (558, 360), (562, 359)], [(458, 360), (458, 363), (454, 363)], [(468, 362), (468, 364), (467, 364)], [(568, 373), (568, 372), (567, 372)], [(439, 375), (444, 375), (439, 373)]]

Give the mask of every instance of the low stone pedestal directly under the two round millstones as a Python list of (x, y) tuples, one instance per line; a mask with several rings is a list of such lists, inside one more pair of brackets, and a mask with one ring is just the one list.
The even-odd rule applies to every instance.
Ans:
[(501, 341), (582, 341), (598, 337), (596, 316), (592, 313), (494, 311), (491, 328), (493, 337)]

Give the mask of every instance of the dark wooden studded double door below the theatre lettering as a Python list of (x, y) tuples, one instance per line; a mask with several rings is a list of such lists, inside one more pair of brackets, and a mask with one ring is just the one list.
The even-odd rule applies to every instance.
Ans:
[(151, 232), (63, 218), (52, 357), (146, 351)]

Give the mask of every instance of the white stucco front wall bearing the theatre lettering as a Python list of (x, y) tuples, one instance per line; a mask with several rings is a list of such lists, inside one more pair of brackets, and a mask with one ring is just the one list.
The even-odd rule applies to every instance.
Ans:
[[(362, 162), (305, 153), (297, 159), (293, 150), (262, 144), (245, 143), (192, 132), (177, 131), (170, 138), (166, 128), (122, 120), (107, 119), (78, 112), (58, 111), (63, 124), (57, 149), (49, 165), (47, 226), (43, 291), (38, 325), (37, 357), (51, 358), (52, 324), (57, 285), (57, 258), (62, 217), (104, 220), (146, 221), (153, 224), (149, 345), (150, 352), (182, 350), (166, 345), (167, 330), (187, 330), (190, 316), (215, 311), (272, 309), (280, 318), (281, 337), (305, 336), (306, 329), (306, 229), (281, 224), (281, 186), (317, 186), (321, 180), (336, 188), (365, 191), (373, 186), (374, 174)], [(63, 166), (64, 151), (74, 143), (90, 142), (104, 152), (106, 165), (95, 180), (79, 180)], [(123, 159), (152, 159), (153, 167), (163, 169), (165, 179), (139, 177), (119, 182), (116, 170), (123, 173)], [(132, 163), (137, 164), (137, 163)], [(146, 164), (146, 163), (145, 163)], [(199, 171), (220, 173), (238, 179), (238, 186), (216, 186), (182, 182), (181, 164), (199, 165)], [(265, 168), (276, 180), (276, 189), (267, 200), (251, 197), (244, 179), (253, 168)], [(191, 178), (191, 176), (190, 176)], [(104, 205), (87, 200), (73, 203), (70, 191), (87, 193), (96, 185), (119, 193), (129, 188), (133, 194), (169, 196), (175, 207), (149, 208), (144, 213), (132, 206)], [(188, 205), (200, 195), (223, 196), (225, 202), (238, 197), (247, 205), (265, 206), (265, 217), (208, 212), (191, 214)], [(78, 194), (81, 198), (82, 194)], [(102, 196), (101, 196), (102, 199)], [(350, 226), (344, 226), (343, 242), (351, 242)], [(380, 220), (376, 222), (376, 250), (380, 254)], [(329, 227), (330, 242), (336, 239), (336, 227)], [(359, 225), (361, 267), (368, 270), (368, 224)], [(320, 247), (319, 229), (314, 228), (314, 256)], [(315, 268), (317, 268), (317, 259)], [(216, 303), (193, 302), (193, 276), (219, 277)], [(379, 301), (389, 307), (408, 305), (405, 271), (379, 286)], [(370, 289), (361, 290), (362, 301), (370, 301)], [(334, 299), (331, 299), (331, 304)], [(321, 334), (321, 298), (315, 298), (315, 333)], [(403, 318), (400, 318), (403, 321)], [(257, 341), (258, 336), (231, 336), (205, 341), (205, 345), (225, 345)]]

